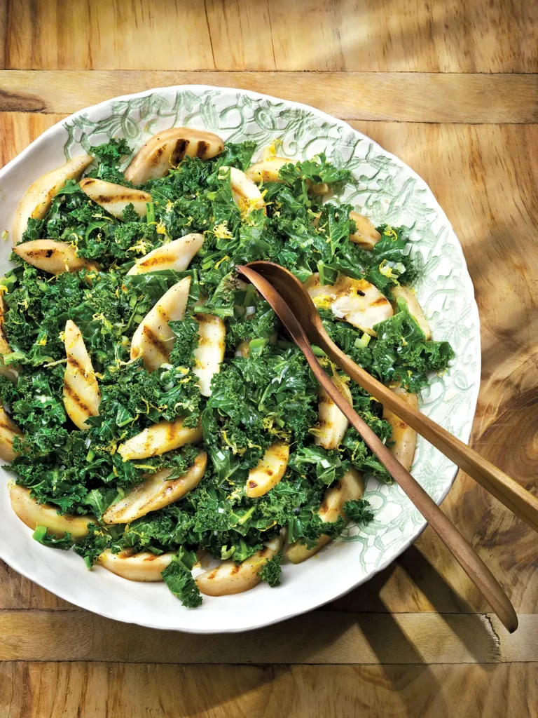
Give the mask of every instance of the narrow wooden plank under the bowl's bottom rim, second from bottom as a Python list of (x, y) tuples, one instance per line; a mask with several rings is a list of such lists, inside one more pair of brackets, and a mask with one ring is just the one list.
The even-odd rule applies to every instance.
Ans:
[(249, 633), (194, 635), (82, 610), (0, 611), (0, 661), (511, 663), (538, 661), (538, 615), (314, 611)]

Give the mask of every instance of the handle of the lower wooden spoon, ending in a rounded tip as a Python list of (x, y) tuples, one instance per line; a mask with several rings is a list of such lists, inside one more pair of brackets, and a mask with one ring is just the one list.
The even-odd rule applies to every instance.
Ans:
[[(289, 329), (289, 327), (288, 327)], [(366, 424), (359, 414), (347, 403), (344, 396), (334, 386), (329, 376), (326, 375), (321, 365), (318, 363), (316, 356), (313, 354), (310, 345), (298, 343), (299, 348), (306, 356), (306, 360), (310, 365), (314, 376), (323, 386), (326, 393), (329, 394), (340, 411), (345, 414), (351, 424), (361, 434), (364, 442), (369, 449), (376, 454), (379, 461), (387, 469), (387, 471), (395, 478), (398, 485), (412, 500), (426, 521), (433, 528), (435, 533), (452, 552), (453, 556), (471, 579), (473, 584), (478, 588), (481, 594), (486, 598), (487, 602), (499, 616), (506, 630), (513, 633), (517, 628), (518, 620), (514, 607), (511, 605), (509, 598), (506, 596), (501, 584), (491, 573), (489, 568), (484, 564), (482, 559), (476, 554), (471, 546), (463, 538), (456, 526), (451, 523), (440, 510), (430, 495), (420, 486), (420, 484), (410, 475), (410, 473), (402, 467), (391, 452), (385, 447), (381, 439), (374, 434), (372, 429)]]

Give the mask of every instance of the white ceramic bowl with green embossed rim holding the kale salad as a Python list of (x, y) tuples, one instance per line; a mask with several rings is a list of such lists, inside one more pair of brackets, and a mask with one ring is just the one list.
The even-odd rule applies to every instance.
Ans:
[[(463, 441), (471, 432), (480, 379), (478, 310), (461, 246), (428, 186), (392, 154), (345, 122), (311, 107), (244, 90), (202, 85), (148, 90), (87, 108), (57, 123), (0, 171), (0, 230), (11, 227), (27, 187), (44, 172), (82, 154), (90, 144), (125, 136), (138, 149), (148, 136), (171, 126), (208, 129), (223, 139), (255, 139), (258, 156), (279, 139), (278, 154), (311, 157), (325, 151), (351, 169), (356, 185), (345, 199), (364, 208), (374, 223), (410, 228), (412, 251), (424, 265), (417, 295), (435, 339), (447, 339), (456, 359), (423, 395), (423, 411)], [(1, 243), (1, 271), (9, 267), (11, 242)], [(259, 628), (311, 610), (364, 583), (417, 538), (425, 521), (396, 486), (369, 480), (367, 498), (375, 520), (351, 542), (329, 545), (299, 566), (283, 567), (277, 589), (261, 584), (250, 592), (204, 597), (184, 608), (164, 584), (136, 584), (101, 567), (92, 571), (72, 552), (32, 539), (11, 510), (9, 474), (0, 469), (0, 558), (63, 599), (103, 616), (151, 628), (220, 633)], [(440, 503), (455, 467), (421, 439), (413, 473)]]

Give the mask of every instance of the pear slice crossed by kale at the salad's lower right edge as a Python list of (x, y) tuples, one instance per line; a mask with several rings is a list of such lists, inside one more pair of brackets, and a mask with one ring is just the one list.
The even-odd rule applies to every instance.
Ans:
[[(336, 521), (339, 516), (347, 521), (344, 504), (346, 501), (362, 498), (364, 495), (364, 479), (357, 469), (349, 469), (334, 486), (327, 489), (324, 500), (318, 509), (318, 515), (324, 523)], [(301, 541), (290, 544), (285, 550), (286, 558), (290, 559), (293, 564), (301, 564), (306, 559), (314, 556), (320, 549), (329, 544), (331, 538), (325, 533), (316, 541), (313, 549), (308, 549)]]

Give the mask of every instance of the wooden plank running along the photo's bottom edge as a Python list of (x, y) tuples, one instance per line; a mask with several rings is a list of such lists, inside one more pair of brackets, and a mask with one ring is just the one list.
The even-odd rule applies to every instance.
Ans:
[[(2, 663), (9, 718), (536, 718), (536, 663), (170, 666)], [(54, 690), (51, 687), (54, 686)]]

